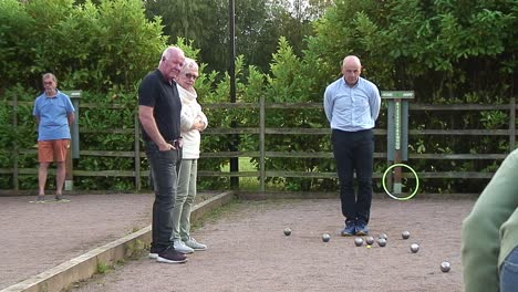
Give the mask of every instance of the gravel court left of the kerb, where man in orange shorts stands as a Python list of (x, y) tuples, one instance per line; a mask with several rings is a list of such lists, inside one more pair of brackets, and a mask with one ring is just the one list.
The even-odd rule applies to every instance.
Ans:
[(0, 197), (0, 290), (149, 225), (152, 195), (68, 198)]

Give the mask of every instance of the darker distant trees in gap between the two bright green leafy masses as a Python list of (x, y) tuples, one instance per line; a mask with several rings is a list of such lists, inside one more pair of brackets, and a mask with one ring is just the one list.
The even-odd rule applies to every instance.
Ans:
[[(290, 6), (293, 3), (293, 7)], [(311, 21), (322, 13), (330, 0), (239, 0), (236, 8), (236, 53), (262, 72), (277, 50), (280, 36), (288, 39), (300, 55), (303, 38), (312, 33)], [(210, 70), (224, 72), (229, 66), (229, 1), (168, 0), (146, 1), (149, 19), (160, 17), (169, 40), (194, 40), (200, 60)]]

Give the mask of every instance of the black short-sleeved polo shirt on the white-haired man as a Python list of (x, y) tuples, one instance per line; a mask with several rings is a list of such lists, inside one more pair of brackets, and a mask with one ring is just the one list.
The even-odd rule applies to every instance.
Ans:
[[(167, 81), (157, 69), (147, 74), (138, 86), (138, 105), (153, 107), (158, 132), (165, 140), (180, 137), (182, 101), (176, 83)], [(142, 127), (144, 140), (152, 140)]]

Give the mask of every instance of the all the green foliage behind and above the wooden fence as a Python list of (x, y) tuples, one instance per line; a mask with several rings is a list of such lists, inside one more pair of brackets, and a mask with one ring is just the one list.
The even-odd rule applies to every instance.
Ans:
[[(325, 86), (340, 76), (346, 54), (361, 58), (363, 76), (382, 91), (413, 90), (416, 104), (508, 104), (518, 75), (518, 2), (417, 0), (236, 1), (238, 103), (321, 103)], [(12, 150), (35, 150), (32, 102), (41, 74), (53, 72), (62, 90), (82, 90), (79, 114), (81, 149), (134, 152), (136, 88), (157, 65), (167, 42), (198, 60), (199, 102), (211, 128), (257, 128), (259, 109), (219, 108), (229, 101), (228, 1), (32, 0), (0, 1), (0, 168), (11, 168)], [(146, 9), (146, 11), (144, 10)], [(313, 10), (315, 9), (315, 10)], [(210, 11), (207, 13), (206, 11)], [(145, 18), (147, 14), (147, 19)], [(162, 18), (160, 18), (162, 17)], [(320, 18), (319, 18), (320, 17)], [(164, 27), (162, 25), (164, 24)], [(312, 25), (313, 30), (310, 30)], [(165, 33), (165, 34), (163, 34)], [(283, 36), (282, 36), (283, 35)], [(177, 38), (182, 36), (182, 38)], [(302, 39), (305, 38), (305, 42)], [(167, 39), (169, 41), (167, 41)], [(193, 40), (193, 41), (190, 41)], [(196, 49), (196, 48), (200, 48)], [(305, 48), (305, 49), (304, 49)], [(214, 70), (217, 69), (217, 70)], [(263, 73), (265, 72), (265, 73)], [(10, 103), (17, 96), (20, 106)], [(383, 103), (377, 128), (386, 128)], [(328, 128), (323, 111), (268, 109), (267, 128)], [(506, 111), (411, 112), (411, 129), (507, 129)], [(204, 134), (204, 153), (229, 152), (230, 135)], [(143, 149), (143, 145), (139, 145)], [(376, 136), (375, 152), (386, 149)], [(239, 135), (239, 152), (258, 152), (258, 135)], [(267, 152), (329, 153), (328, 135), (266, 137)], [(501, 154), (506, 136), (411, 136), (413, 154)], [(228, 158), (199, 160), (200, 170), (221, 170)], [(83, 156), (75, 169), (134, 169), (133, 157)], [(500, 161), (411, 159), (417, 171), (495, 171)], [(37, 167), (35, 154), (18, 157), (20, 168)], [(258, 167), (258, 159), (251, 165)], [(386, 168), (375, 159), (375, 173)], [(146, 159), (141, 169), (147, 170)], [(268, 158), (267, 170), (334, 173), (332, 158)], [(49, 179), (51, 181), (52, 179)], [(143, 187), (147, 188), (146, 179)], [(204, 177), (199, 187), (228, 187), (227, 177)], [(270, 186), (290, 190), (336, 190), (335, 179), (269, 178)], [(274, 185), (279, 182), (278, 185)], [(375, 191), (382, 191), (375, 181)], [(429, 192), (479, 191), (484, 179), (425, 179)], [(0, 175), (0, 188), (12, 186)], [(53, 184), (53, 182), (50, 182)], [(20, 188), (35, 188), (37, 178), (20, 176)], [(133, 177), (81, 177), (80, 189), (134, 189)]]

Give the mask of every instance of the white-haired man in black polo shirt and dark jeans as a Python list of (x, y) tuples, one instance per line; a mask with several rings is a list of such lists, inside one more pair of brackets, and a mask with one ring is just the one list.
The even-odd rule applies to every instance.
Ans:
[(172, 210), (182, 161), (182, 102), (174, 79), (179, 74), (184, 60), (179, 48), (167, 48), (158, 69), (147, 74), (138, 87), (138, 118), (155, 187), (149, 258), (167, 263), (187, 261), (185, 254), (174, 249), (170, 240)]

